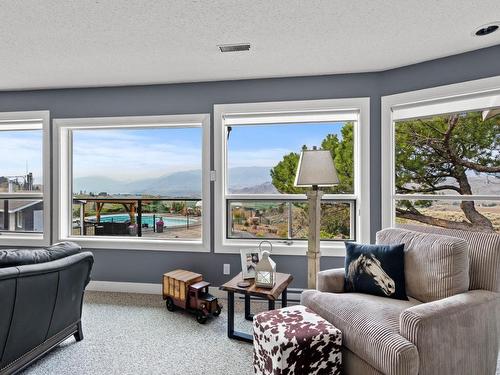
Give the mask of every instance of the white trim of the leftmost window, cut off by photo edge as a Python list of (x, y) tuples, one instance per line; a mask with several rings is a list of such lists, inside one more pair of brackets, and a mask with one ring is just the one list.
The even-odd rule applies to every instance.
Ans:
[[(43, 191), (42, 194), (32, 193), (14, 193), (2, 194), (0, 193), (0, 200), (2, 195), (11, 198), (27, 197), (40, 199), (43, 196), (43, 233), (7, 233), (2, 232), (0, 235), (0, 246), (48, 246), (51, 243), (51, 169), (50, 169), (50, 112), (49, 111), (20, 111), (20, 112), (1, 112), (0, 113), (0, 126), (2, 122), (19, 123), (19, 130), (26, 129), (39, 129), (38, 126), (33, 126), (42, 122), (42, 178), (43, 178)], [(17, 130), (15, 126), (10, 129)]]

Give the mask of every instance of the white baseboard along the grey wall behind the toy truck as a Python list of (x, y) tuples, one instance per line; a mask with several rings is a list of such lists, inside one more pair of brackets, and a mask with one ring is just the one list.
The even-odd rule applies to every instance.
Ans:
[[(99, 281), (91, 280), (87, 286), (87, 290), (94, 292), (113, 292), (113, 293), (138, 293), (138, 294), (155, 294), (162, 295), (162, 285), (154, 283), (131, 283), (123, 281)], [(217, 298), (225, 298), (226, 293), (216, 286), (209, 287), (209, 291)], [(289, 300), (300, 300), (301, 289), (289, 289)], [(236, 297), (242, 295), (236, 294)]]

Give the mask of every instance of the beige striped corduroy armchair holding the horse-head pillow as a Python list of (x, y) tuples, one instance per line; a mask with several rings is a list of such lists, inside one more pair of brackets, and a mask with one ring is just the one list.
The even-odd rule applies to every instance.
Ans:
[(409, 301), (344, 293), (343, 269), (320, 272), (301, 297), (342, 331), (344, 372), (494, 375), (500, 235), (414, 226), (377, 243), (405, 244)]

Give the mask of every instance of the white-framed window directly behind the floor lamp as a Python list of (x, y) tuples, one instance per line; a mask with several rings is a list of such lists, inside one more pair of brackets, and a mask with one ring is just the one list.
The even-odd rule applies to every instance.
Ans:
[(360, 229), (366, 231), (367, 225), (360, 212), (368, 215), (368, 199), (360, 199), (361, 127), (368, 133), (361, 111), (367, 100), (354, 104), (340, 100), (216, 106), (216, 251), (256, 246), (263, 239), (273, 241), (281, 253), (305, 250), (307, 189), (294, 186), (304, 147), (329, 150), (340, 179), (339, 185), (323, 188), (320, 233), (325, 250), (340, 254), (343, 241), (361, 239)]

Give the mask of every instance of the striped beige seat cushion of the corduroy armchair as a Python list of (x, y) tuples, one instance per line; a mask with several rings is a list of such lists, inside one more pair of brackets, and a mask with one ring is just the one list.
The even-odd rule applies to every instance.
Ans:
[(399, 315), (419, 301), (306, 290), (301, 304), (342, 332), (343, 345), (388, 375), (418, 373), (417, 348), (399, 334)]

